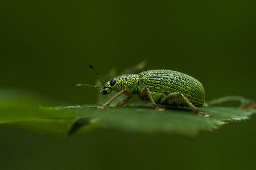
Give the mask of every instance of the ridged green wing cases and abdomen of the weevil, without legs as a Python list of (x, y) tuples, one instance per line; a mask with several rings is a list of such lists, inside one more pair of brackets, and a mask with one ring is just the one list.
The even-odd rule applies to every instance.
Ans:
[[(148, 70), (139, 74), (138, 91), (147, 86), (155, 103), (160, 104), (168, 94), (181, 92), (196, 107), (202, 107), (205, 102), (205, 92), (199, 80), (187, 74), (172, 70)], [(168, 103), (170, 106), (185, 106), (180, 98)]]

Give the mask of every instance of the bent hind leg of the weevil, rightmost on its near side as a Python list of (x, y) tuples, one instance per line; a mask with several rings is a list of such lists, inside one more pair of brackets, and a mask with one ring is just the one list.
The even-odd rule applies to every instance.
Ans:
[(200, 112), (199, 109), (197, 107), (195, 107), (195, 105), (193, 105), (189, 100), (188, 98), (183, 95), (181, 92), (173, 92), (171, 94), (169, 94), (168, 96), (166, 96), (162, 101), (161, 103), (165, 104), (167, 103), (168, 101), (171, 101), (171, 100), (176, 100), (178, 98), (181, 98), (187, 105), (188, 107), (190, 107), (192, 109), (192, 111), (196, 114), (199, 114), (200, 116), (205, 116), (205, 117), (209, 117), (210, 114), (207, 114), (207, 113), (203, 113), (203, 112)]

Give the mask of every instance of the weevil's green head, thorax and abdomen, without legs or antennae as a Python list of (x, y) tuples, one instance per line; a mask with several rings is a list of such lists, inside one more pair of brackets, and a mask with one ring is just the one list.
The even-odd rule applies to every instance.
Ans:
[[(110, 86), (110, 81), (102, 87), (101, 91), (129, 90), (131, 94), (141, 94), (143, 87), (148, 87), (156, 104), (167, 95), (173, 92), (181, 92), (196, 107), (202, 107), (205, 102), (204, 87), (199, 80), (187, 74), (172, 70), (148, 70), (140, 74), (123, 74), (113, 78), (116, 80), (114, 86)], [(178, 98), (167, 104), (169, 106), (187, 106), (185, 102)]]

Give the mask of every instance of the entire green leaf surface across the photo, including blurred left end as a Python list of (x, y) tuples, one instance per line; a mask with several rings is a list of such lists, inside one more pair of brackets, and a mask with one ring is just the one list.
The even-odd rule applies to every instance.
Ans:
[(0, 94), (0, 124), (18, 125), (63, 137), (94, 128), (193, 136), (201, 131), (213, 131), (226, 122), (246, 120), (255, 113), (252, 108), (205, 107), (200, 111), (211, 117), (203, 117), (189, 108), (155, 111), (144, 103), (108, 109), (98, 109), (96, 105), (42, 107), (40, 103), (56, 103), (24, 91), (2, 90)]

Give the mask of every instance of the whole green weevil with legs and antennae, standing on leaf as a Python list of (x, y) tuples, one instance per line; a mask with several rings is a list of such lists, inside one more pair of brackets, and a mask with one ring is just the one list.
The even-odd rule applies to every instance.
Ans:
[(187, 74), (172, 70), (148, 70), (139, 74), (123, 74), (104, 83), (92, 65), (89, 65), (100, 79), (102, 86), (77, 84), (77, 86), (100, 87), (102, 95), (108, 95), (113, 90), (118, 93), (98, 108), (106, 108), (121, 94), (126, 99), (119, 101), (118, 107), (123, 107), (131, 98), (138, 94), (141, 100), (150, 101), (152, 107), (163, 111), (164, 107), (190, 107), (192, 111), (201, 116), (210, 116), (200, 112), (197, 107), (205, 104), (205, 92), (199, 80)]

